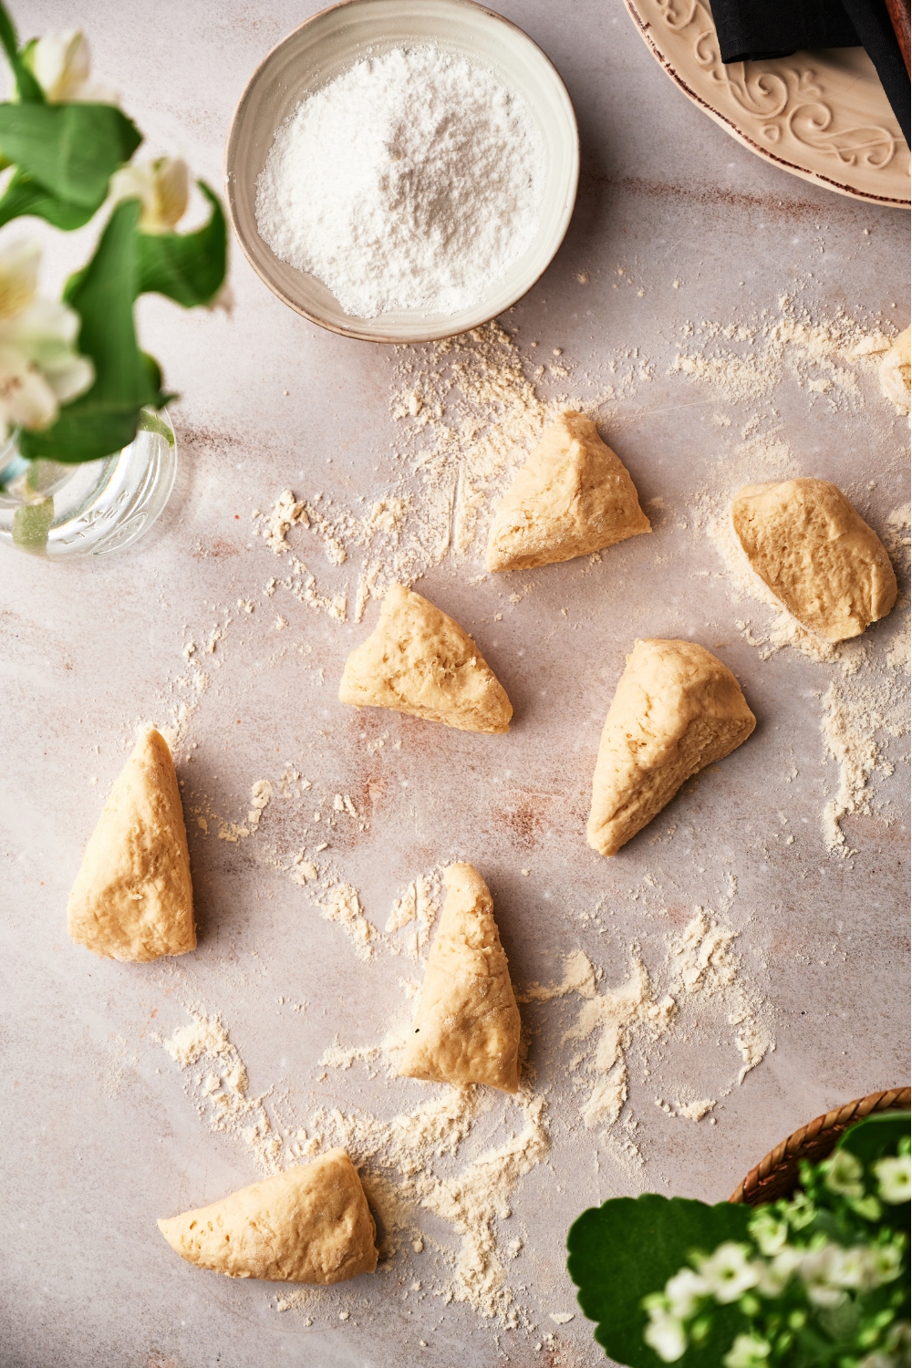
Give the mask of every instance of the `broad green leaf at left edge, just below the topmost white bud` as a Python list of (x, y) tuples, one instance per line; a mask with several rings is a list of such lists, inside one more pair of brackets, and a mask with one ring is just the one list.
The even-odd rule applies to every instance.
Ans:
[(67, 204), (101, 207), (142, 134), (113, 104), (0, 104), (0, 149)]

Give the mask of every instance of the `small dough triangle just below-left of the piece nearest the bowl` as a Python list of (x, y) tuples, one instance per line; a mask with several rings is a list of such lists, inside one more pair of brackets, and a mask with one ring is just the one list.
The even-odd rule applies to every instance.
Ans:
[(402, 584), (390, 586), (380, 621), (345, 662), (339, 698), (462, 732), (506, 732), (513, 717), (510, 699), (468, 632)]

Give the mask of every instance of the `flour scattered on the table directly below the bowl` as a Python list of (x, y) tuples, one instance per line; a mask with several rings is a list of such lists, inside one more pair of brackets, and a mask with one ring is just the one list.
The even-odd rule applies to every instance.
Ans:
[[(537, 397), (514, 339), (496, 323), (398, 352), (390, 492), (358, 514), (323, 492), (295, 498), (286, 490), (269, 513), (253, 514), (253, 531), (290, 565), (269, 592), (282, 586), (338, 621), (347, 621), (351, 598), (360, 622), (391, 583), (412, 584), (447, 555), (470, 555), (491, 498), (562, 406)], [(331, 565), (351, 568), (345, 588), (320, 590), (313, 558), (289, 542), (293, 528), (308, 529)]]

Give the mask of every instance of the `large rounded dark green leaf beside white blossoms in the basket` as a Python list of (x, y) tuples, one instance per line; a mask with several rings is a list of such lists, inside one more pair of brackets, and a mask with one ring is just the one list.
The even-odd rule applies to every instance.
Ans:
[[(584, 1313), (598, 1321), (595, 1338), (606, 1353), (630, 1368), (662, 1368), (643, 1339), (648, 1321), (643, 1298), (662, 1291), (669, 1278), (688, 1265), (690, 1250), (710, 1253), (726, 1239), (747, 1239), (749, 1218), (749, 1207), (707, 1207), (655, 1193), (615, 1197), (584, 1211), (567, 1235), (567, 1268)], [(678, 1363), (682, 1368), (718, 1368), (747, 1324), (737, 1306), (714, 1308), (710, 1335)]]

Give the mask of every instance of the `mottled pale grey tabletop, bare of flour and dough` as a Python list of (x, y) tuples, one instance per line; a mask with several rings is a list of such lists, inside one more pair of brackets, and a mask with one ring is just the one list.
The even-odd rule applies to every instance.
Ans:
[[(217, 185), (237, 96), (309, 8), (275, 4), (267, 14), (231, 0), (124, 16), (122, 5), (96, 3), (77, 16), (62, 4), (29, 4), (16, 18), (26, 36), (78, 18), (97, 74), (124, 92), (150, 150), (185, 153)], [(775, 312), (778, 295), (808, 274), (807, 297), (823, 313), (844, 306), (907, 321), (902, 215), (814, 190), (740, 148), (680, 97), (619, 0), (517, 3), (505, 12), (555, 62), (582, 134), (577, 212), (556, 261), (511, 315), (521, 339), (561, 346), (580, 363), (634, 346), (662, 360), (685, 320)], [(4, 237), (21, 233), (16, 224)], [(53, 241), (49, 282), (85, 259), (90, 235), (63, 246)], [(615, 290), (618, 267), (628, 276)], [(582, 271), (585, 289), (576, 279)], [(643, 297), (626, 286), (630, 276)], [(294, 316), (237, 252), (232, 282), (231, 319), (183, 316), (159, 300), (139, 309), (144, 345), (183, 394), (174, 410), (178, 486), (155, 532), (97, 565), (49, 566), (10, 553), (0, 568), (8, 1045), (0, 1360), (4, 1368), (595, 1364), (600, 1352), (578, 1312), (561, 1328), (547, 1319), (573, 1309), (562, 1241), (585, 1205), (636, 1190), (721, 1200), (801, 1122), (907, 1081), (905, 767), (881, 781), (881, 795), (894, 800), (893, 824), (852, 818), (857, 856), (827, 855), (819, 817), (835, 774), (820, 763), (819, 694), (833, 670), (790, 651), (763, 661), (736, 632), (745, 610), (718, 577), (706, 538), (682, 525), (696, 491), (732, 477), (730, 446), (711, 421), (725, 405), (665, 368), (604, 428), (641, 495), (666, 501), (652, 538), (615, 549), (585, 576), (578, 565), (529, 576), (537, 588), (515, 610), (502, 583), (468, 583), (477, 564), (444, 564), (418, 586), (477, 632), (514, 702), (510, 736), (431, 732), (392, 714), (365, 720), (342, 709), (335, 681), (376, 607), (364, 625), (338, 625), (289, 595), (263, 599), (278, 562), (249, 536), (249, 513), (289, 484), (340, 499), (383, 492), (395, 358)], [(850, 415), (824, 404), (808, 409), (807, 394), (783, 386), (732, 412), (737, 423), (752, 408), (777, 408), (812, 473), (835, 479), (881, 528), (908, 498), (905, 430), (883, 413), (874, 421), (874, 391), (868, 401)], [(256, 601), (253, 614), (232, 609), (238, 598)], [(361, 964), (339, 929), (268, 866), (267, 851), (287, 855), (301, 844), (297, 826), (309, 803), (275, 802), (261, 832), (237, 845), (191, 825), (194, 956), (123, 966), (93, 959), (66, 936), (67, 889), (131, 728), (139, 718), (168, 721), (185, 640), (201, 640), (226, 607), (234, 621), (219, 647), (223, 666), (213, 666), (190, 724), (198, 748), (180, 766), (185, 798), (191, 804), (206, 793), (217, 813), (238, 819), (250, 784), (278, 780), (289, 761), (320, 795), (364, 800), (372, 785), (369, 830), (336, 855), (380, 925), (409, 878), (459, 855), (491, 884), (517, 984), (559, 977), (561, 956), (577, 947), (617, 984), (633, 941), (648, 964), (658, 963), (665, 933), (697, 903), (718, 910), (727, 874), (737, 877), (727, 918), (744, 930), (745, 973), (768, 997), (778, 1048), (719, 1103), (714, 1129), (659, 1111), (656, 1079), (645, 1081), (637, 1064), (630, 1109), (645, 1167), (632, 1174), (603, 1148), (596, 1174), (596, 1137), (580, 1126), (561, 1048), (572, 1008), (525, 1010), (537, 1086), (551, 1089), (552, 1152), (511, 1202), (525, 1248), (509, 1274), (513, 1286), (525, 1285), (517, 1295), (539, 1334), (495, 1341), (496, 1327), (466, 1306), (431, 1295), (403, 1301), (413, 1278), (433, 1285), (442, 1265), (431, 1250), (369, 1286), (362, 1279), (334, 1293), (331, 1309), (306, 1327), (297, 1312), (278, 1315), (263, 1285), (228, 1283), (179, 1263), (155, 1228), (156, 1216), (257, 1176), (242, 1146), (200, 1120), (182, 1075), (150, 1040), (156, 1027), (168, 1033), (186, 1022), (185, 1004), (222, 1011), (252, 1092), (287, 1088), (302, 1116), (327, 1096), (392, 1115), (414, 1104), (420, 1086), (372, 1081), (358, 1066), (316, 1082), (314, 1062), (336, 1033), (345, 1044), (369, 1044), (401, 1012), (402, 967), (380, 958)], [(278, 658), (273, 610), (289, 618), (294, 646), (312, 646), (306, 661), (293, 651)], [(503, 611), (496, 627), (495, 610)], [(889, 620), (872, 629), (871, 648), (882, 651), (896, 627)], [(607, 862), (582, 840), (587, 791), (600, 721), (636, 635), (726, 642), (719, 654), (738, 673), (759, 728), (688, 787), (667, 821)], [(384, 729), (402, 747), (368, 762), (358, 732)], [(893, 758), (904, 750), (898, 741)], [(792, 767), (799, 773), (786, 784)], [(513, 792), (502, 792), (507, 782)], [(525, 825), (515, 821), (522, 811)], [(779, 811), (796, 833), (790, 847), (777, 839)], [(641, 882), (647, 871), (654, 889)], [(598, 937), (578, 914), (602, 896), (610, 930)], [(310, 1007), (291, 1014), (280, 997)], [(707, 1059), (706, 1068), (692, 1059), (695, 1075), (718, 1071), (715, 1055)], [(660, 1062), (655, 1067), (662, 1078)], [(428, 1239), (454, 1246), (440, 1222), (425, 1216), (423, 1224)], [(350, 1306), (346, 1323), (339, 1305)], [(548, 1328), (552, 1349), (536, 1352)]]

